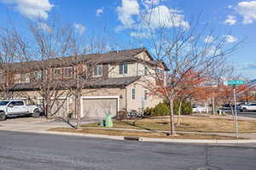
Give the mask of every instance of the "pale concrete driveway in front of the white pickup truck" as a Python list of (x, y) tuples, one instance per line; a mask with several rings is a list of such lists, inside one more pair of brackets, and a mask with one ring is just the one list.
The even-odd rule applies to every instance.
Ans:
[[(97, 120), (88, 119), (83, 120), (82, 124), (97, 122)], [(71, 123), (76, 126), (75, 120)], [(47, 120), (45, 117), (12, 117), (6, 121), (0, 122), (0, 131), (13, 131), (13, 132), (44, 132), (54, 127), (70, 127), (66, 122), (60, 119)]]

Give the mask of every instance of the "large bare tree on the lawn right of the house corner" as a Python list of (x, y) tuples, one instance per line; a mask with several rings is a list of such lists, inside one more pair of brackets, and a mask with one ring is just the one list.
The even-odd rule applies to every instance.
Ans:
[[(175, 135), (173, 104), (177, 99), (177, 92), (182, 88), (185, 75), (194, 70), (200, 77), (211, 77), (215, 71), (212, 65), (218, 65), (228, 54), (234, 52), (240, 42), (235, 45), (228, 44), (227, 37), (219, 35), (207, 24), (202, 26), (199, 18), (184, 23), (177, 16), (170, 14), (167, 19), (159, 20), (156, 27), (155, 20), (151, 18), (153, 13), (158, 13), (158, 18), (162, 17), (160, 11), (155, 11), (155, 8), (154, 11), (141, 14), (142, 24), (134, 31), (147, 37), (138, 37), (133, 39), (133, 42), (147, 47), (158, 61), (157, 67), (154, 68), (156, 72), (151, 74), (158, 83), (144, 79), (143, 85), (151, 94), (160, 96), (169, 104), (171, 135)], [(158, 72), (163, 62), (169, 69), (166, 83), (163, 81), (163, 73)]]

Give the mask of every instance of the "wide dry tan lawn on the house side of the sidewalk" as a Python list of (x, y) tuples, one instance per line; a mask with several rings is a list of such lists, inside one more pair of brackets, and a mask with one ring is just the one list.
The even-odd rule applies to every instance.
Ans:
[[(177, 122), (177, 119), (175, 120)], [(234, 122), (232, 119), (183, 116), (181, 126), (177, 132), (202, 132), (202, 133), (234, 133)], [(85, 124), (82, 127), (99, 127), (98, 123)], [(139, 120), (114, 121), (114, 128), (132, 128), (148, 130), (170, 130), (170, 119), (168, 117), (154, 117)], [(256, 133), (256, 121), (240, 120), (240, 133)]]

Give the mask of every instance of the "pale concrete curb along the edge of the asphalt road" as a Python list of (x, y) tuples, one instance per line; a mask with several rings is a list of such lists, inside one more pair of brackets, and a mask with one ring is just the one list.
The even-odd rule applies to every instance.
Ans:
[[(125, 140), (125, 136), (110, 136), (103, 134), (90, 134), (90, 133), (63, 133), (63, 132), (52, 132), (52, 131), (13, 131), (21, 133), (41, 133), (41, 134), (55, 134), (55, 135), (67, 135), (67, 136), (78, 136), (85, 138), (96, 138), (96, 139), (114, 139), (114, 140)], [(157, 139), (157, 138), (146, 138), (139, 137), (140, 142), (160, 142), (160, 143), (195, 143), (195, 144), (251, 144), (256, 143), (256, 139)]]

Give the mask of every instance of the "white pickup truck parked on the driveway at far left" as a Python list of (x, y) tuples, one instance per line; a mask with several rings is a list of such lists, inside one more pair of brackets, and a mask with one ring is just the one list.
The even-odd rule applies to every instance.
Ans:
[(26, 105), (22, 100), (0, 101), (0, 121), (4, 121), (7, 116), (38, 117), (42, 112), (43, 110), (38, 105)]

